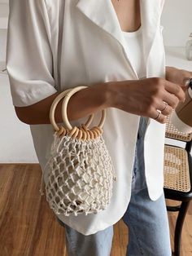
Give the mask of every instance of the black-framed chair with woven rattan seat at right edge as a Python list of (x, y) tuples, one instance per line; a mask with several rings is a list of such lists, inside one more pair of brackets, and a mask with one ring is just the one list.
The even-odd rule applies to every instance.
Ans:
[[(168, 206), (168, 211), (178, 211), (177, 223), (174, 232), (173, 255), (180, 255), (181, 231), (185, 214), (192, 200), (192, 133), (185, 134), (177, 130), (168, 117), (166, 124), (166, 138), (184, 142), (183, 148), (165, 143), (164, 146), (164, 194), (165, 198), (181, 201), (180, 205)], [(171, 139), (171, 140), (170, 140)]]

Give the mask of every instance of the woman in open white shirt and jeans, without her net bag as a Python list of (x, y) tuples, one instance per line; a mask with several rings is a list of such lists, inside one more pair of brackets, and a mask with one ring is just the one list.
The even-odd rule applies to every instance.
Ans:
[[(106, 210), (58, 216), (65, 227), (68, 254), (109, 256), (113, 224), (123, 218), (129, 227), (127, 255), (170, 256), (164, 131), (166, 117), (185, 100), (183, 79), (192, 73), (165, 68), (160, 25), (164, 1), (12, 0), (10, 4), (11, 95), (17, 117), (30, 125), (41, 169), (53, 139), (50, 104), (61, 91), (89, 86), (69, 101), (72, 126), (107, 108), (103, 139), (117, 181)], [(95, 115), (93, 126), (98, 120)], [(62, 123), (61, 102), (56, 121)]]

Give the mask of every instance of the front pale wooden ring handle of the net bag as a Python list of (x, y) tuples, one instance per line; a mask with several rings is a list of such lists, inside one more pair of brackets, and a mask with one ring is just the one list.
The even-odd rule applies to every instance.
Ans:
[[(68, 115), (67, 115), (67, 106), (68, 106), (68, 101), (69, 99), (72, 97), (72, 95), (74, 95), (77, 91), (82, 90), (87, 88), (88, 86), (76, 86), (75, 88), (73, 88), (72, 90), (68, 91), (67, 94), (65, 95), (64, 99), (63, 99), (63, 104), (62, 104), (62, 118), (63, 118), (63, 123), (65, 124), (65, 126), (71, 130), (72, 126), (70, 125), (69, 121), (68, 121)], [(101, 121), (98, 124), (99, 128), (103, 127), (104, 121), (106, 118), (106, 110), (103, 109), (102, 110), (102, 117), (101, 117)], [(85, 125), (86, 126), (86, 125)]]

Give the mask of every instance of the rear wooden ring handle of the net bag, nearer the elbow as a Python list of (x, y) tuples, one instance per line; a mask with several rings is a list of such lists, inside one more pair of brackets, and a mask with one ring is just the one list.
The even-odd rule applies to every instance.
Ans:
[[(58, 126), (58, 125), (56, 124), (56, 122), (55, 122), (55, 109), (56, 109), (56, 107), (57, 107), (57, 104), (59, 104), (59, 101), (60, 101), (61, 99), (63, 99), (63, 97), (65, 97), (65, 96), (68, 94), (68, 92), (69, 92), (70, 90), (72, 90), (72, 89), (70, 88), (70, 89), (68, 89), (68, 90), (62, 91), (62, 92), (54, 99), (54, 101), (52, 102), (52, 104), (51, 104), (51, 106), (50, 106), (50, 123), (51, 123), (52, 126), (54, 126), (54, 129), (55, 129), (56, 131), (59, 131), (60, 128), (59, 128), (59, 126)], [(93, 121), (93, 119), (94, 119), (94, 114), (91, 114), (91, 115), (89, 116), (88, 121), (86, 121), (85, 126), (88, 127), (88, 126), (90, 125), (90, 123)], [(70, 129), (70, 130), (71, 130), (71, 129)]]

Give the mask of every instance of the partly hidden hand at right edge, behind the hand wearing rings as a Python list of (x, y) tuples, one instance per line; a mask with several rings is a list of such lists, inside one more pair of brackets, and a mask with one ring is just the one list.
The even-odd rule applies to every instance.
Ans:
[(185, 69), (166, 67), (166, 80), (169, 82), (184, 85), (185, 78), (192, 78), (192, 72)]

